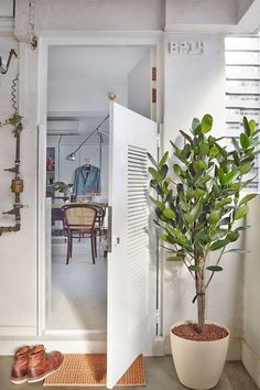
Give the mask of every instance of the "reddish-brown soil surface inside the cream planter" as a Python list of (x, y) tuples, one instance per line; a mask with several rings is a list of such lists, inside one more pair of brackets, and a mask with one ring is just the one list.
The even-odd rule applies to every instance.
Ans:
[(192, 323), (175, 326), (172, 333), (178, 337), (194, 342), (214, 342), (228, 335), (227, 329), (215, 324), (205, 324), (204, 333), (199, 335), (197, 333), (197, 325)]

